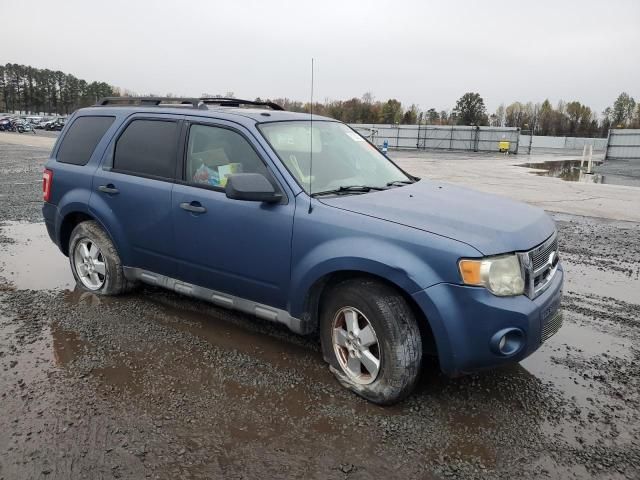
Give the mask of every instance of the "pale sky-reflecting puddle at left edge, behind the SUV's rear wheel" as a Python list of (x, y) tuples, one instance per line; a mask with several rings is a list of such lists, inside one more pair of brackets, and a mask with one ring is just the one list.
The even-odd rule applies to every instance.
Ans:
[(0, 234), (0, 276), (21, 290), (68, 289), (75, 285), (69, 261), (51, 241), (44, 223), (5, 222)]

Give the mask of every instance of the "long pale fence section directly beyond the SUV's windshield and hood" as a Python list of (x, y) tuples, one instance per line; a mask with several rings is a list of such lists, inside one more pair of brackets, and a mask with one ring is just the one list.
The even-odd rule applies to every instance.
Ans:
[(389, 148), (468, 150), (498, 152), (499, 142), (510, 142), (509, 151), (518, 152), (520, 131), (511, 127), (467, 127), (440, 125), (351, 124), (371, 143)]

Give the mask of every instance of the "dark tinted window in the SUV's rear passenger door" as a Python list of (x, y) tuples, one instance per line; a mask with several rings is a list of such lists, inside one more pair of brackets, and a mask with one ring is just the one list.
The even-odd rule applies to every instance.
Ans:
[(116, 142), (113, 169), (152, 177), (174, 178), (177, 148), (177, 122), (134, 120)]

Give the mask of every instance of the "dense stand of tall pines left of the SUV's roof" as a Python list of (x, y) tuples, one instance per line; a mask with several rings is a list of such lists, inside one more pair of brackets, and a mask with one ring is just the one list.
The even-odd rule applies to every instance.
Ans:
[(0, 65), (0, 112), (69, 114), (101, 97), (118, 95), (105, 82), (87, 82), (60, 71)]

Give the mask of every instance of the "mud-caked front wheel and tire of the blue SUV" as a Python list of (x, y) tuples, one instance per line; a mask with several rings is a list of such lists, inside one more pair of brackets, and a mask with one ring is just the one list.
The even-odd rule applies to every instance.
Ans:
[[(420, 374), (422, 337), (404, 297), (383, 283), (351, 279), (333, 286), (325, 298), (320, 311), (320, 339), (324, 358), (338, 381), (379, 405), (391, 405), (407, 397)], [(359, 330), (356, 334), (349, 328), (354, 321)], [(353, 357), (360, 361), (359, 368)]]

